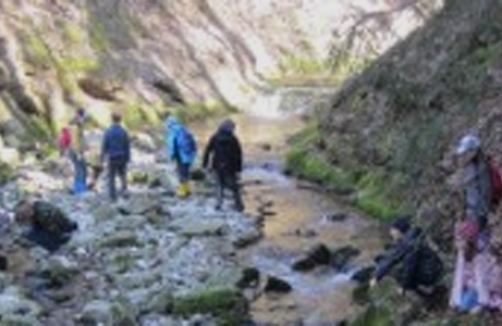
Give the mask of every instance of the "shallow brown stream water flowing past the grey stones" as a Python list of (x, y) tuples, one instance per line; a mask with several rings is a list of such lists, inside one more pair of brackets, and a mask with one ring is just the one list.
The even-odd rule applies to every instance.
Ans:
[[(242, 250), (240, 261), (288, 281), (293, 288), (288, 295), (260, 295), (251, 306), (254, 320), (262, 325), (335, 325), (350, 317), (357, 310), (351, 300), (350, 270), (298, 273), (291, 264), (313, 245), (323, 243), (331, 248), (353, 245), (361, 250), (353, 267), (367, 265), (382, 248), (377, 224), (341, 206), (336, 198), (300, 189), (296, 180), (281, 172), (287, 139), (304, 126), (299, 117), (236, 115), (233, 119), (244, 148), (246, 210), (257, 213), (268, 203), (264, 238)], [(207, 121), (193, 126), (202, 146), (217, 125)], [(340, 212), (348, 218), (341, 222), (325, 218)]]

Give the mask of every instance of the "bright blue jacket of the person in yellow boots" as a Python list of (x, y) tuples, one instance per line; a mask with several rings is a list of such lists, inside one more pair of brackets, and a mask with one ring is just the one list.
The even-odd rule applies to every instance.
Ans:
[(187, 150), (179, 145), (181, 143), (180, 137), (187, 134), (185, 127), (175, 117), (168, 117), (165, 127), (168, 158), (181, 164), (192, 164), (195, 161), (197, 150)]

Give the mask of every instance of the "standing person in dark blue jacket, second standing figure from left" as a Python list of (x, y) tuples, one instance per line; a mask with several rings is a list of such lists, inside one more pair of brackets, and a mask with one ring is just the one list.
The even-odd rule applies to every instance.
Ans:
[(131, 159), (131, 146), (127, 131), (120, 124), (122, 117), (112, 114), (112, 126), (105, 132), (101, 148), (101, 164), (108, 161), (108, 192), (112, 201), (117, 200), (115, 178), (122, 184), (121, 193), (127, 192), (127, 164)]

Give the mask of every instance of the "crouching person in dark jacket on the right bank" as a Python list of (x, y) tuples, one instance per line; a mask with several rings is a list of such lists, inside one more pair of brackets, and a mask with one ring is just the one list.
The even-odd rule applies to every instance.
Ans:
[(394, 266), (400, 265), (394, 276), (403, 293), (412, 290), (421, 296), (431, 294), (442, 277), (443, 263), (421, 239), (423, 231), (401, 217), (392, 223), (390, 233), (395, 246), (378, 263), (370, 286), (374, 287)]

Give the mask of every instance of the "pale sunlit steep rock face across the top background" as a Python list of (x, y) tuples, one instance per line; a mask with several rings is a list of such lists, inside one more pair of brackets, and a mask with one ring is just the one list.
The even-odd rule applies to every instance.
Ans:
[(45, 133), (66, 121), (69, 108), (81, 105), (101, 123), (107, 118), (103, 112), (117, 108), (139, 110), (131, 119), (142, 119), (166, 103), (245, 106), (267, 77), (289, 69), (288, 61), (343, 57), (347, 49), (373, 57), (440, 5), (439, 0), (2, 1), (1, 130)]

